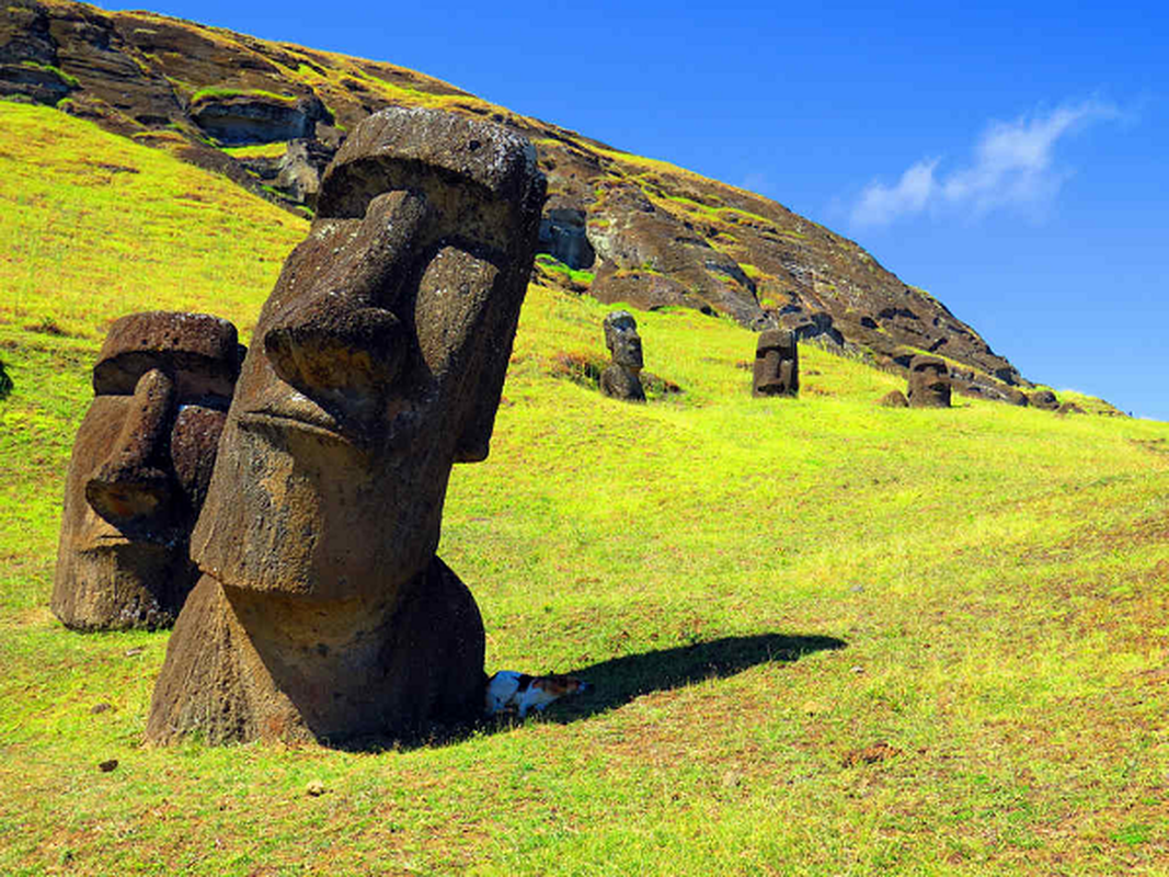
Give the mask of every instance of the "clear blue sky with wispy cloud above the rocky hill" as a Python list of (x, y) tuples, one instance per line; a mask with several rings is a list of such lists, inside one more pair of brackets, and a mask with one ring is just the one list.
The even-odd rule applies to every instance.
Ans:
[(1169, 421), (1161, 4), (151, 8), (402, 64), (754, 189), (928, 289), (1028, 378)]

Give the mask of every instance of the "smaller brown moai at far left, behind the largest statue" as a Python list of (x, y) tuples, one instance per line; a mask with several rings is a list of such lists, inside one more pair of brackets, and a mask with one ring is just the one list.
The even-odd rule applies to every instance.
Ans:
[(238, 373), (235, 326), (219, 317), (155, 311), (110, 327), (65, 476), (51, 608), (67, 627), (174, 623)]

